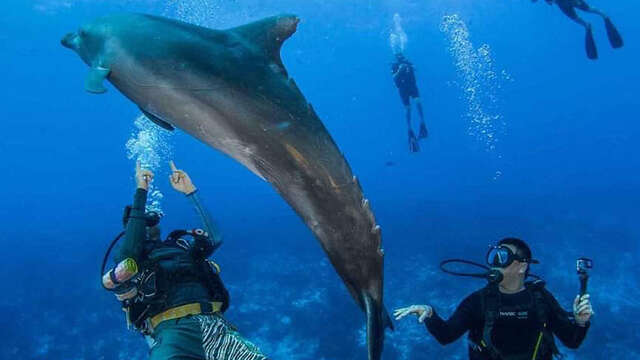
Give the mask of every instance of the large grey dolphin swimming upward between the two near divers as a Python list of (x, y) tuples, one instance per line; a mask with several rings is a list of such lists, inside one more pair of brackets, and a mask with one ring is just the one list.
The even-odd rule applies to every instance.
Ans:
[(368, 359), (381, 358), (380, 227), (362, 188), (280, 58), (293, 15), (213, 30), (145, 14), (114, 14), (62, 39), (89, 66), (85, 88), (108, 80), (159, 126), (178, 127), (271, 183), (316, 236), (366, 313)]

